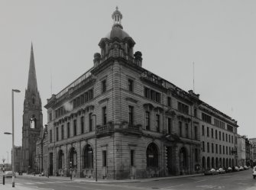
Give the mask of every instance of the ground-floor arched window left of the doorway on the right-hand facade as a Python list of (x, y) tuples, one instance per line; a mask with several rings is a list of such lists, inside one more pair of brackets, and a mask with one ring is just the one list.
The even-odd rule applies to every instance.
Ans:
[(147, 167), (158, 166), (158, 151), (155, 143), (150, 143), (147, 146)]

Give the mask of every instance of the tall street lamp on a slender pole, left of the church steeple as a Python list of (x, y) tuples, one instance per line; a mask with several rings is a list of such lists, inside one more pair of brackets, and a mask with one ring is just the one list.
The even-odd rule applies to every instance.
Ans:
[[(21, 92), (18, 89), (11, 89), (11, 112), (12, 112), (12, 156), (11, 156), (11, 168), (12, 168), (12, 187), (15, 187), (15, 116), (14, 116), (14, 92)], [(11, 134), (11, 133), (5, 133)]]

